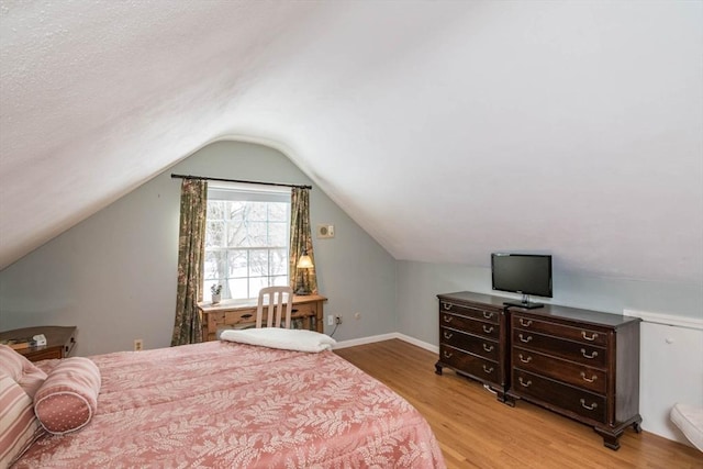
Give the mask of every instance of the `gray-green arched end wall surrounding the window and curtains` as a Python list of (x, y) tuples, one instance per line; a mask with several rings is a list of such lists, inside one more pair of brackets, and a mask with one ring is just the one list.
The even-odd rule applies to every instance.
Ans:
[[(312, 183), (276, 149), (209, 145), (0, 271), (0, 331), (76, 325), (78, 355), (131, 350), (135, 338), (168, 346), (180, 189), (171, 172)], [(395, 260), (314, 185), (310, 203), (312, 226), (335, 225), (334, 238), (313, 238), (325, 314), (344, 321), (335, 338), (394, 332)]]

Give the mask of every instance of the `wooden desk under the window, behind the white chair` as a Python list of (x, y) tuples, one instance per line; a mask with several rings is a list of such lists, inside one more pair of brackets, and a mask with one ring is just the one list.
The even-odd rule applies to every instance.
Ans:
[[(303, 328), (324, 332), (322, 304), (327, 301), (319, 294), (293, 295), (291, 321), (302, 320)], [(256, 323), (257, 299), (225, 300), (219, 304), (200, 303), (202, 339), (216, 340), (217, 330), (243, 328)]]

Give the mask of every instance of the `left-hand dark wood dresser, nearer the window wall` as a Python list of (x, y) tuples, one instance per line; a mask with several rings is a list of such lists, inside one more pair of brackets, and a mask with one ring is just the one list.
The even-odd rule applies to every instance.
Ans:
[(505, 402), (507, 389), (506, 322), (502, 301), (471, 292), (439, 294), (439, 360), (437, 375), (448, 367), (477, 379)]

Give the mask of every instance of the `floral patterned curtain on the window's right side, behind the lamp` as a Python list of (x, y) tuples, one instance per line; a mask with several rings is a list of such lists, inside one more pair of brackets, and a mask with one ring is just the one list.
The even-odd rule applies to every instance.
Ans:
[(288, 263), (288, 273), (290, 287), (295, 291), (302, 282), (305, 290), (317, 294), (317, 276), (315, 269), (306, 269), (308, 275), (297, 268), (298, 259), (308, 253), (312, 264), (315, 264), (315, 256), (312, 252), (312, 234), (310, 231), (310, 190), (303, 188), (292, 188), (290, 193), (290, 259)]

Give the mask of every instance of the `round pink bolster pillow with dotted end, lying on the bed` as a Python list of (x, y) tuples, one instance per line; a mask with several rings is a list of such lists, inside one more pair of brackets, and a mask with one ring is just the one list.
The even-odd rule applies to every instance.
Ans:
[(100, 370), (90, 359), (65, 358), (34, 395), (34, 412), (49, 433), (62, 435), (88, 425), (98, 410)]

